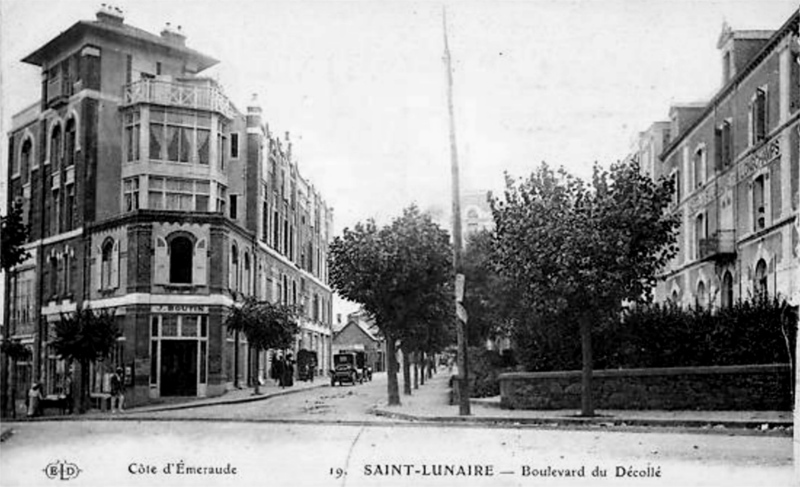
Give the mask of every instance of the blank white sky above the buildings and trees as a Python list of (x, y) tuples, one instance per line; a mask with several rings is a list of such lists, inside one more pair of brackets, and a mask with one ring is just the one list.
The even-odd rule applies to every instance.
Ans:
[[(97, 0), (2, 0), (3, 133), (39, 96), (19, 60)], [(114, 2), (111, 2), (114, 3)], [(121, 0), (126, 23), (183, 26), (187, 45), (221, 61), (209, 73), (244, 109), (289, 131), (301, 172), (334, 208), (335, 233), (388, 221), (412, 201), (447, 212), (450, 159), (442, 5), (454, 59), (462, 190), (502, 189), (503, 171), (541, 161), (588, 176), (623, 158), (672, 102), (720, 86), (723, 20), (777, 29), (798, 0), (520, 2)], [(0, 164), (7, 162), (0, 142)], [(0, 173), (5, 178), (6, 171)], [(2, 181), (5, 189), (5, 181)], [(3, 202), (5, 197), (2, 198)]]

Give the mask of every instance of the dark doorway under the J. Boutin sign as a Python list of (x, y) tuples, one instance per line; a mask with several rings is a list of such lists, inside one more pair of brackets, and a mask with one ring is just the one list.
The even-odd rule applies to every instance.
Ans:
[(197, 340), (161, 340), (161, 395), (197, 395)]

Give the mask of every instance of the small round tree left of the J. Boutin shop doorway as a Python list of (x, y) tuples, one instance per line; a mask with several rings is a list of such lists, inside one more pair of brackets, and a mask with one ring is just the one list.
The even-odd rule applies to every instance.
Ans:
[(62, 313), (55, 323), (55, 336), (50, 342), (56, 355), (80, 366), (80, 391), (77, 395), (78, 411), (89, 408), (89, 364), (107, 358), (120, 330), (114, 322), (114, 312), (78, 308), (74, 313)]

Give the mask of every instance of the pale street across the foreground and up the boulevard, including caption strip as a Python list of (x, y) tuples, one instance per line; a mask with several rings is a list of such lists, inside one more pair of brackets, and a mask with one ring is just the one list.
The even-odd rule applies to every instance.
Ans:
[[(80, 468), (77, 486), (790, 486), (794, 477), (791, 437), (413, 423), (368, 413), (385, 391), (381, 374), (240, 404), (11, 423), (0, 484), (45, 484), (53, 462)], [(592, 476), (597, 467), (607, 477)]]

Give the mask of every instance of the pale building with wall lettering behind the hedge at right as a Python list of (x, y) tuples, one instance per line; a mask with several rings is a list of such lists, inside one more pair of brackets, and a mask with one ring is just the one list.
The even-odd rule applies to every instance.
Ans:
[(774, 32), (724, 25), (722, 88), (670, 110), (653, 176), (675, 182), (681, 227), (658, 301), (726, 307), (767, 293), (800, 303), (797, 30), (797, 13)]

